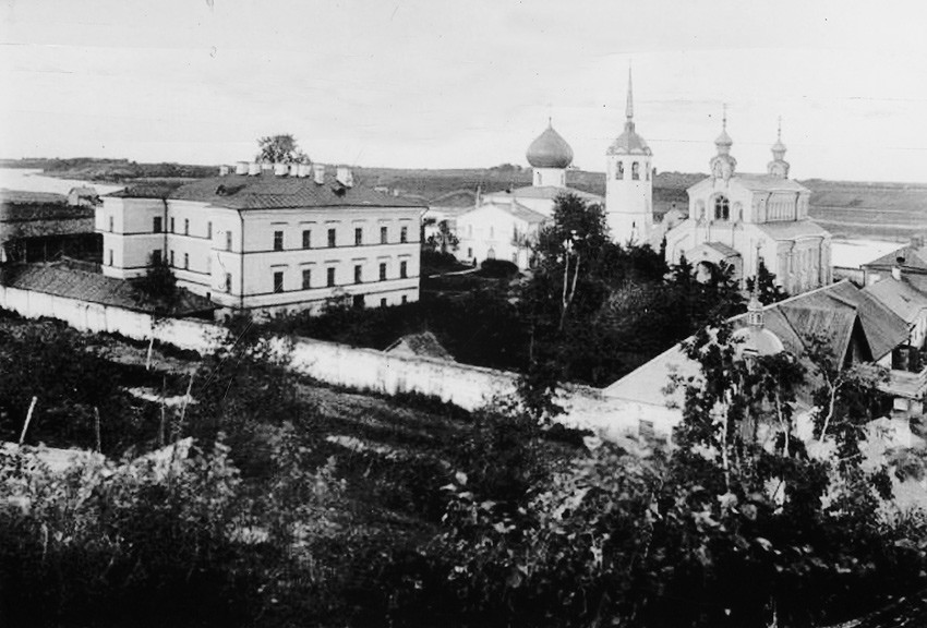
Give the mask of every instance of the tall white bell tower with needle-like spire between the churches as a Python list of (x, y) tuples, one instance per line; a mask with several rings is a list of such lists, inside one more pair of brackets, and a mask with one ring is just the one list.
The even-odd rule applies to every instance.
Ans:
[(606, 154), (605, 215), (612, 240), (647, 244), (653, 231), (653, 153), (635, 128), (630, 69), (625, 118), (624, 132)]

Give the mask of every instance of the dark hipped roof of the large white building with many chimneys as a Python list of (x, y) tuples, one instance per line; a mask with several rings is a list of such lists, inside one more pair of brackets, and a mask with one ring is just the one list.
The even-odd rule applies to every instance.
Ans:
[[(329, 169), (330, 170), (330, 169)], [(392, 196), (375, 190), (345, 188), (326, 173), (325, 183), (313, 177), (277, 177), (265, 171), (255, 177), (227, 174), (200, 179), (181, 185), (149, 183), (109, 194), (123, 198), (168, 198), (195, 201), (230, 209), (286, 209), (299, 207), (425, 207), (422, 200)]]

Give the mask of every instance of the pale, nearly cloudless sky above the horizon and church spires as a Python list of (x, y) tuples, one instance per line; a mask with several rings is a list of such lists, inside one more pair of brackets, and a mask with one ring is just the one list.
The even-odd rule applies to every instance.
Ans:
[(660, 171), (738, 168), (782, 118), (797, 179), (927, 182), (927, 2), (0, 0), (0, 157), (527, 165), (549, 117), (604, 169), (635, 120)]

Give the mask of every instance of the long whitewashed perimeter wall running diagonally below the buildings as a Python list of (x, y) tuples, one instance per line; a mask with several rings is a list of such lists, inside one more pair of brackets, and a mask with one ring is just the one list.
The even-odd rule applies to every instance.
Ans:
[[(154, 336), (156, 342), (200, 353), (214, 350), (228, 338), (225, 328), (212, 323), (155, 319), (142, 312), (2, 286), (0, 307), (26, 318), (57, 318), (82, 331), (120, 334), (142, 341)], [(475, 410), (496, 397), (511, 397), (516, 389), (515, 373), (458, 362), (394, 355), (309, 338), (296, 339), (290, 352), (296, 371), (327, 384), (386, 395), (432, 395), (466, 410)], [(598, 388), (586, 386), (568, 387), (559, 403), (566, 410), (565, 423), (588, 427), (603, 437), (637, 435), (639, 420), (652, 419), (652, 409), (610, 399)], [(657, 421), (659, 432), (670, 428), (663, 423)]]

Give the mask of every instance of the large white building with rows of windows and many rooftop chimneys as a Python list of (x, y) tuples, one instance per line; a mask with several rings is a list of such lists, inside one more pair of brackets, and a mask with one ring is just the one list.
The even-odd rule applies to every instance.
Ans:
[(109, 277), (140, 277), (165, 259), (178, 286), (224, 312), (269, 314), (338, 297), (356, 306), (417, 301), (424, 210), (353, 186), (346, 168), (240, 162), (234, 173), (179, 188), (109, 194), (96, 230)]

